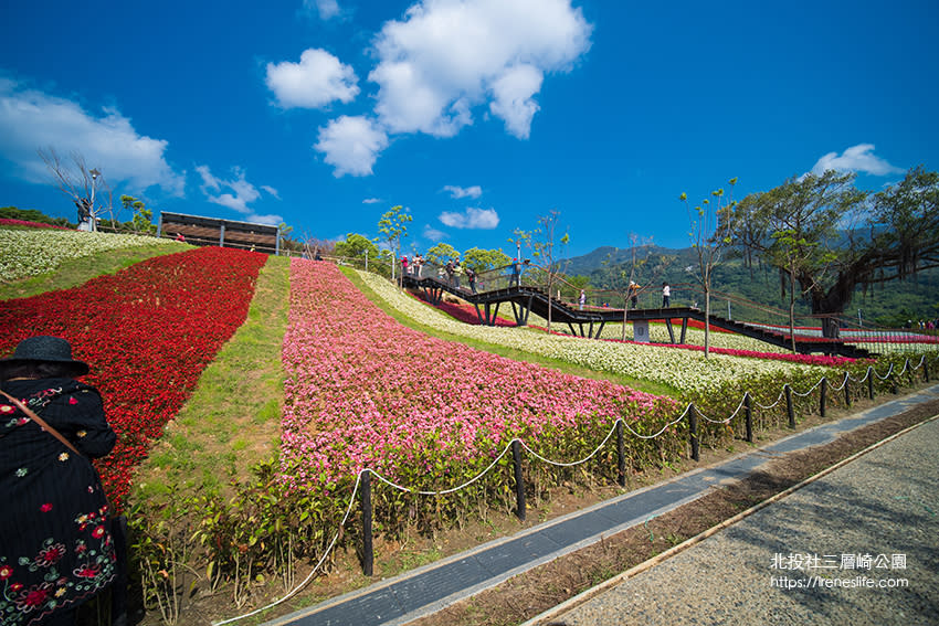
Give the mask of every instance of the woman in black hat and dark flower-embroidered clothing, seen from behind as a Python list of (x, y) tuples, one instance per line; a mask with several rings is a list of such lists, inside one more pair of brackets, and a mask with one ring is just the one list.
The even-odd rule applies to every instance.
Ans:
[[(31, 337), (0, 360), (0, 623), (74, 624), (115, 576), (108, 505), (91, 458), (116, 436), (88, 365), (59, 337)], [(40, 416), (74, 449), (32, 420)], [(77, 450), (77, 452), (76, 452)]]

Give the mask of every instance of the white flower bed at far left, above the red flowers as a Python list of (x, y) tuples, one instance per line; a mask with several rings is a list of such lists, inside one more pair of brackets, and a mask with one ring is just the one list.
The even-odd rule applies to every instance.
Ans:
[(62, 262), (99, 252), (172, 241), (112, 233), (0, 229), (0, 280), (10, 282), (52, 272)]

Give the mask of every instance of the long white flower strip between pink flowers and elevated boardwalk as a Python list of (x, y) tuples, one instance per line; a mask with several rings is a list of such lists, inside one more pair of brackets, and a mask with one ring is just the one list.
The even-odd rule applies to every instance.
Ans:
[(772, 373), (787, 380), (791, 373), (824, 368), (726, 354), (705, 358), (678, 348), (614, 343), (574, 337), (549, 336), (525, 328), (471, 326), (414, 300), (388, 280), (359, 272), (366, 284), (392, 307), (431, 328), (506, 348), (515, 348), (597, 371), (669, 385), (679, 391), (708, 391), (728, 380)]

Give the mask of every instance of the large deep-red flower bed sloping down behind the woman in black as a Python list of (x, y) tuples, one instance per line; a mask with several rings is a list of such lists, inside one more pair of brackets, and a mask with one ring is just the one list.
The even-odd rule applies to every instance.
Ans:
[(64, 337), (104, 396), (117, 446), (97, 463), (112, 501), (247, 315), (260, 253), (202, 247), (158, 256), (72, 289), (0, 303), (0, 354), (34, 335)]

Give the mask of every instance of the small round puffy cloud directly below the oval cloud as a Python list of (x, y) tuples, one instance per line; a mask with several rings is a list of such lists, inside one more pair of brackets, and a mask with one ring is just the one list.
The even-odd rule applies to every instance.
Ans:
[(378, 155), (388, 147), (388, 135), (366, 117), (341, 116), (319, 129), (314, 146), (336, 169), (333, 176), (369, 176)]

